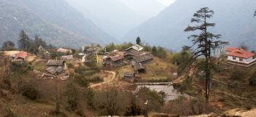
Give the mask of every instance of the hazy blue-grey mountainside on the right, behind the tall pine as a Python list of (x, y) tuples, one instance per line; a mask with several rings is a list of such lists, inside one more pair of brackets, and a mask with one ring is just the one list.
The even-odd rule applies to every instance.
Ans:
[(147, 20), (124, 36), (124, 39), (140, 39), (152, 45), (161, 45), (170, 49), (181, 49), (191, 45), (187, 39), (192, 33), (184, 29), (190, 25), (193, 14), (201, 7), (214, 10), (214, 17), (209, 20), (216, 23), (211, 29), (222, 34), (222, 39), (230, 41), (230, 46), (245, 43), (250, 49), (256, 49), (255, 0), (176, 0), (156, 17)]

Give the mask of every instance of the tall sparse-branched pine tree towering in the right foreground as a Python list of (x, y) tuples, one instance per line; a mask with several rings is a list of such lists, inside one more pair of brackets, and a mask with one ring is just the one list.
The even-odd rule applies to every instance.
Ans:
[(195, 50), (193, 52), (193, 58), (200, 56), (205, 57), (204, 65), (204, 77), (206, 80), (206, 101), (209, 98), (209, 89), (211, 81), (211, 51), (217, 49), (219, 45), (224, 44), (220, 41), (221, 35), (215, 35), (209, 32), (208, 28), (213, 28), (215, 23), (208, 23), (208, 19), (213, 17), (214, 11), (208, 9), (208, 7), (203, 7), (197, 11), (191, 19), (191, 23), (197, 23), (195, 26), (188, 26), (184, 31), (190, 32), (200, 32), (199, 34), (193, 34), (189, 36), (191, 39)]

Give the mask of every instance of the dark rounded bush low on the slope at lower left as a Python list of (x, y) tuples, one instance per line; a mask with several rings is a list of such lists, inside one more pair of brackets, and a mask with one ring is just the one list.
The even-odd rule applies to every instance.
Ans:
[(22, 95), (28, 97), (30, 100), (37, 99), (38, 91), (35, 86), (31, 84), (25, 84), (22, 88)]

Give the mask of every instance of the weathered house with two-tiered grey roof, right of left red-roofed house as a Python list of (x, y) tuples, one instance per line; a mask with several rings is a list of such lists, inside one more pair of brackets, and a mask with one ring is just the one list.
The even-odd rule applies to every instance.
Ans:
[(47, 66), (46, 71), (55, 76), (62, 73), (63, 70), (67, 68), (64, 60), (49, 60)]

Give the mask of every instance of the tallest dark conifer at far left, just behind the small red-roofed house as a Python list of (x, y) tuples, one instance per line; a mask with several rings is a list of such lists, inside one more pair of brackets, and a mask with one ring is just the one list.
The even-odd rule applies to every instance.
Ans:
[(24, 30), (20, 31), (20, 39), (18, 40), (18, 47), (21, 50), (28, 50), (29, 49), (29, 36), (26, 35)]

